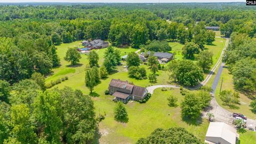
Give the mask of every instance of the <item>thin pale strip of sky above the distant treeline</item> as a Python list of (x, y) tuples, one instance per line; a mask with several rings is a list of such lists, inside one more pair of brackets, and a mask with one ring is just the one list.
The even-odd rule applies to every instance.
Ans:
[(0, 3), (71, 2), (71, 3), (187, 3), (187, 2), (245, 2), (245, 0), (0, 0)]

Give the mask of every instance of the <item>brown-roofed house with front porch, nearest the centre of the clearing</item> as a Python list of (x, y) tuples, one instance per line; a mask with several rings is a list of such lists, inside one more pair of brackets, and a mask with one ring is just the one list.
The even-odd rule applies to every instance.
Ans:
[(145, 87), (132, 85), (128, 81), (121, 81), (120, 79), (111, 79), (108, 91), (116, 100), (123, 102), (127, 102), (130, 99), (135, 101), (143, 100), (148, 93)]

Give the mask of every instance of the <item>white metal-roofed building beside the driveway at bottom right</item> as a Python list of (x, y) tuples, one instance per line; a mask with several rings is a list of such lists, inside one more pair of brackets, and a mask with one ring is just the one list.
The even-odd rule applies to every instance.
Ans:
[(205, 143), (236, 144), (239, 134), (236, 129), (226, 123), (211, 122), (205, 135)]

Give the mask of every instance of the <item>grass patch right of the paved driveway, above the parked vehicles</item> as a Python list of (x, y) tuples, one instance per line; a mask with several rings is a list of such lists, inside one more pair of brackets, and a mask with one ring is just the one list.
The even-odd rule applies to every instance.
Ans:
[[(216, 95), (216, 100), (219, 103), (219, 105), (231, 112), (236, 112), (236, 113), (242, 113), (244, 115), (246, 115), (249, 118), (252, 119), (256, 119), (256, 114), (253, 114), (252, 111), (250, 110), (251, 107), (249, 107), (251, 100), (249, 98), (246, 97), (246, 95), (239, 93), (240, 95), (240, 102), (241, 105), (237, 105), (238, 109), (231, 109), (228, 106), (223, 106), (222, 105), (222, 101), (219, 97), (219, 93), (220, 93), (220, 85), (221, 85), (221, 79), (223, 77), (223, 83), (222, 83), (222, 89), (221, 90), (234, 90), (234, 84), (233, 84), (233, 76), (229, 73), (227, 68), (223, 68), (221, 77), (220, 77), (220, 81), (218, 83), (217, 89), (215, 91), (215, 95)], [(255, 137), (256, 139), (256, 137)]]

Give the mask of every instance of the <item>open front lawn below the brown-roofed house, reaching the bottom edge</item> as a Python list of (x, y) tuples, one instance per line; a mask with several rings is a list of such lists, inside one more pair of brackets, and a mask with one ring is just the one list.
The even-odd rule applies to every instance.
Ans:
[(178, 98), (178, 103), (183, 100), (179, 89), (162, 91), (156, 89), (147, 103), (129, 102), (125, 105), (128, 115), (128, 123), (118, 123), (114, 120), (115, 102), (113, 96), (100, 95), (95, 97), (96, 111), (106, 112), (106, 119), (100, 125), (101, 135), (99, 142), (103, 143), (135, 143), (141, 137), (147, 137), (158, 127), (168, 129), (173, 126), (185, 127), (186, 130), (204, 141), (209, 123), (202, 119), (202, 123), (188, 124), (182, 121), (180, 106), (174, 108), (167, 106), (167, 97), (170, 94)]

